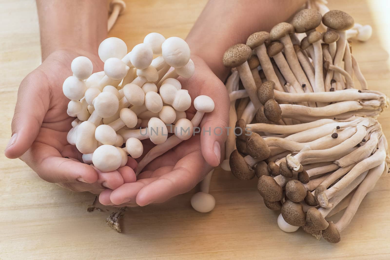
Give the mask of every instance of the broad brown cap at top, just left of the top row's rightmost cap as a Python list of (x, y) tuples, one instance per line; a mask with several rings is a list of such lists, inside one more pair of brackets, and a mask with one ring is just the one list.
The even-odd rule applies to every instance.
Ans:
[(320, 12), (314, 9), (303, 9), (296, 13), (293, 18), (292, 24), (295, 28), (295, 32), (304, 33), (310, 30), (314, 30), (320, 25), (322, 15)]

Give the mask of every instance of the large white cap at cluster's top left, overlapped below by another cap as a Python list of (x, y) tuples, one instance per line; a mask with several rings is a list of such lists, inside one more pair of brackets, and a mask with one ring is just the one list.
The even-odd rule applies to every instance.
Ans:
[(127, 46), (123, 40), (110, 37), (100, 43), (97, 53), (103, 62), (106, 62), (109, 58), (122, 59), (127, 53)]

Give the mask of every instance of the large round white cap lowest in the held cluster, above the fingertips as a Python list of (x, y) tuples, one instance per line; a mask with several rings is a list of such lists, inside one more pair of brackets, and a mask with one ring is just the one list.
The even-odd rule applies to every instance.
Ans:
[(92, 163), (102, 172), (112, 172), (121, 167), (122, 155), (115, 146), (103, 144), (94, 151)]

